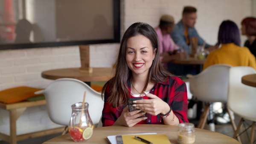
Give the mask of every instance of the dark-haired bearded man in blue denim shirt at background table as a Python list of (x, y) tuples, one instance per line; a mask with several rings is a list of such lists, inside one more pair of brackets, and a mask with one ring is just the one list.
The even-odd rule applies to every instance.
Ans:
[[(198, 37), (198, 45), (202, 46), (204, 40), (198, 35), (198, 32), (195, 29), (195, 22), (197, 18), (196, 9), (192, 6), (186, 6), (183, 9), (182, 19), (179, 23), (175, 25), (174, 30), (170, 34), (174, 42), (182, 46), (184, 51), (191, 53), (189, 49), (190, 37)], [(217, 49), (217, 46), (210, 46), (206, 43), (205, 48), (212, 51)]]

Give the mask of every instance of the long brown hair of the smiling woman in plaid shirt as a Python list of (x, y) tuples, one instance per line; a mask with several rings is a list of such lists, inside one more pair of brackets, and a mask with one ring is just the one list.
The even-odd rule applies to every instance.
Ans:
[[(136, 35), (143, 35), (147, 37), (151, 45), (154, 49), (156, 49), (156, 55), (153, 60), (153, 63), (148, 72), (147, 83), (143, 89), (148, 86), (149, 81), (153, 83), (159, 83), (167, 81), (168, 76), (174, 76), (169, 73), (166, 69), (163, 68), (161, 62), (159, 60), (159, 40), (157, 37), (157, 33), (154, 31), (152, 26), (147, 23), (134, 23), (132, 24), (126, 31), (122, 37), (122, 41), (120, 43), (118, 58), (116, 60), (116, 72), (113, 78), (111, 78), (102, 89), (102, 98), (103, 93), (106, 90), (106, 87), (109, 86), (110, 92), (107, 101), (109, 101), (113, 107), (121, 107), (126, 104), (128, 98), (130, 97), (130, 92), (127, 85), (128, 77), (131, 76), (131, 69), (128, 68), (126, 62), (126, 43), (127, 40)], [(106, 100), (105, 100), (106, 101)]]

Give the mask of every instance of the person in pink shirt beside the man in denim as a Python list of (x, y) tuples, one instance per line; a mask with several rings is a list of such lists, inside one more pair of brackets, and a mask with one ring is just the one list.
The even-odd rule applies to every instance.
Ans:
[(174, 19), (172, 16), (165, 14), (160, 18), (160, 24), (154, 30), (157, 32), (159, 39), (160, 60), (163, 66), (168, 69), (168, 64), (172, 60), (183, 59), (186, 55), (183, 52), (175, 52), (179, 47), (173, 42), (170, 33), (174, 29)]

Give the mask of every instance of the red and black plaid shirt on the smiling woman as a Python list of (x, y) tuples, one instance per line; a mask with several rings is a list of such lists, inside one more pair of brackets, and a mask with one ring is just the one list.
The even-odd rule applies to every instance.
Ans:
[[(127, 80), (127, 84), (129, 90), (131, 91), (131, 83), (129, 80)], [(172, 107), (174, 114), (179, 119), (180, 123), (189, 122), (187, 119), (188, 97), (186, 84), (180, 78), (168, 77), (166, 82), (155, 84), (149, 93), (157, 95), (167, 104), (169, 104), (169, 106)], [(105, 103), (102, 110), (102, 125), (103, 127), (112, 126), (117, 118), (119, 118), (121, 115), (125, 106), (117, 109), (107, 101), (109, 97), (109, 86), (106, 87), (104, 97)], [(161, 120), (160, 114), (150, 115), (146, 113), (146, 117), (147, 124), (163, 124), (163, 120)]]

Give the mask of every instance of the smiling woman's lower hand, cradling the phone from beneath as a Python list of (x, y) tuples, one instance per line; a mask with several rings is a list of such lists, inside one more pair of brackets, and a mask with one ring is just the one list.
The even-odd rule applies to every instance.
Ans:
[(124, 125), (126, 127), (133, 127), (138, 122), (147, 119), (146, 117), (138, 118), (142, 115), (145, 115), (145, 112), (141, 112), (141, 110), (135, 110), (129, 112), (128, 105), (123, 109), (122, 114), (116, 120), (113, 125)]

